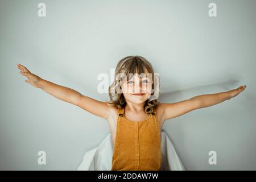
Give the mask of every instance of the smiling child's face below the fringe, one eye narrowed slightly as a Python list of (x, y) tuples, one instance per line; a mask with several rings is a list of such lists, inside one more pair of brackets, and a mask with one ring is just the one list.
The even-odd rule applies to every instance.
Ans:
[(122, 84), (122, 93), (126, 101), (134, 104), (145, 102), (151, 95), (152, 78), (147, 73), (135, 73), (130, 80)]

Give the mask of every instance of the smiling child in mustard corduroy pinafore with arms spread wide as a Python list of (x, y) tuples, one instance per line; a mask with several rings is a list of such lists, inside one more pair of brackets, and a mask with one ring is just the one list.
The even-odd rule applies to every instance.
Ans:
[(115, 69), (115, 80), (109, 86), (110, 101), (102, 102), (43, 80), (23, 65), (18, 64), (18, 68), (32, 86), (108, 121), (114, 146), (112, 170), (160, 170), (164, 121), (229, 100), (246, 88), (240, 86), (176, 103), (159, 103), (159, 77), (155, 76), (151, 63), (142, 56), (127, 56)]

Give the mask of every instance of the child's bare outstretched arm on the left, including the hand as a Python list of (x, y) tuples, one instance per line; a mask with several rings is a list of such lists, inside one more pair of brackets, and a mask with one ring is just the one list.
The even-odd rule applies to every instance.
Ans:
[(20, 69), (20, 74), (27, 77), (27, 80), (25, 81), (32, 86), (35, 86), (35, 88), (40, 88), (48, 94), (51, 94), (53, 97), (79, 106), (89, 113), (97, 115), (98, 117), (105, 119), (109, 117), (110, 106), (107, 104), (107, 102), (94, 100), (93, 98), (83, 96), (76, 90), (44, 80), (39, 76), (31, 73), (21, 64), (18, 64), (18, 68)]

